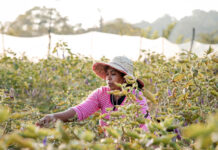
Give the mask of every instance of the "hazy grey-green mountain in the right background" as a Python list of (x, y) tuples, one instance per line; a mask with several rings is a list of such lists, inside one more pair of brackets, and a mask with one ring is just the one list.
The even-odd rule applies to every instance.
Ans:
[(195, 28), (196, 39), (198, 40), (201, 33), (209, 34), (218, 31), (218, 12), (194, 10), (191, 16), (186, 16), (181, 20), (176, 20), (174, 17), (164, 15), (152, 23), (142, 21), (134, 24), (134, 26), (142, 29), (146, 29), (150, 26), (153, 31), (157, 30), (159, 34), (162, 35), (162, 30), (173, 22), (177, 22), (177, 24), (169, 37), (171, 41), (175, 42), (180, 35), (183, 35), (185, 40), (191, 39), (193, 27)]

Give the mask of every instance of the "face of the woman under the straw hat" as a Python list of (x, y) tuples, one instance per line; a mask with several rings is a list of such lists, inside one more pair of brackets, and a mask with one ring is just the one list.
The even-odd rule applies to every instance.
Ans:
[(106, 70), (106, 82), (111, 90), (121, 90), (115, 83), (124, 83), (124, 78), (119, 71), (109, 67)]

